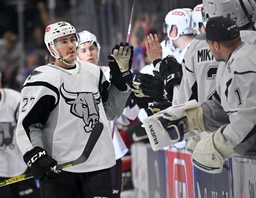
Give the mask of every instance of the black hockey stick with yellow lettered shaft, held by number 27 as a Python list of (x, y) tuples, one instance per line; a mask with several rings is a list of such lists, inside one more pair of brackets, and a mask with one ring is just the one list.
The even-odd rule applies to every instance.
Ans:
[[(92, 149), (94, 148), (96, 142), (98, 141), (98, 138), (100, 137), (102, 130), (103, 130), (103, 124), (101, 122), (96, 123), (94, 128), (92, 129), (92, 132), (89, 136), (87, 144), (85, 145), (85, 149), (83, 150), (82, 155), (79, 158), (77, 158), (77, 160), (73, 160), (71, 162), (66, 162), (64, 164), (59, 164), (59, 165), (53, 166), (53, 167), (51, 167), (51, 170), (52, 171), (61, 170), (63, 168), (68, 168), (68, 167), (75, 166), (77, 164), (82, 164), (82, 163), (86, 162), (86, 160), (89, 158), (89, 156), (92, 152)], [(28, 173), (28, 174), (21, 175), (18, 177), (13, 177), (11, 179), (6, 179), (4, 181), (0, 181), (0, 187), (2, 187), (4, 185), (15, 183), (18, 181), (22, 181), (25, 179), (30, 179), (32, 177), (33, 177), (32, 174)]]

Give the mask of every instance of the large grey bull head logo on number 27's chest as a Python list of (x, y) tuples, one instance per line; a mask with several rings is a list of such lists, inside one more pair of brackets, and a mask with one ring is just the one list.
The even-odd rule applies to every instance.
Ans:
[[(65, 99), (65, 102), (70, 107), (70, 113), (82, 118), (85, 123), (84, 130), (89, 133), (92, 131), (94, 125), (100, 120), (99, 107), (100, 96), (97, 92), (96, 94), (92, 92), (67, 92), (64, 89), (64, 83), (60, 86), (60, 94)], [(97, 96), (95, 98), (94, 96)]]

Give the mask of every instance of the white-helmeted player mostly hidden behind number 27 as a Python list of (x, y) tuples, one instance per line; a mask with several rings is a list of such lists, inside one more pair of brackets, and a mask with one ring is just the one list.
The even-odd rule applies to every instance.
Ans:
[[(98, 43), (97, 38), (91, 32), (86, 30), (79, 32), (80, 36), (80, 46), (78, 48), (78, 58), (81, 61), (91, 62), (95, 65), (98, 65), (98, 60), (100, 56), (100, 43)], [(109, 66), (99, 66), (103, 71), (106, 79), (110, 78)], [(128, 117), (130, 120), (134, 120), (137, 117), (139, 108), (134, 106), (132, 109), (126, 107), (122, 114), (122, 119)], [(117, 122), (120, 122), (122, 119), (117, 119)], [(111, 129), (111, 134), (113, 138), (113, 144), (115, 149), (115, 166), (110, 168), (113, 182), (113, 198), (120, 198), (120, 193), (122, 189), (122, 160), (121, 158), (128, 151), (122, 137), (119, 134), (119, 131), (116, 127), (116, 121), (109, 121), (109, 128)]]

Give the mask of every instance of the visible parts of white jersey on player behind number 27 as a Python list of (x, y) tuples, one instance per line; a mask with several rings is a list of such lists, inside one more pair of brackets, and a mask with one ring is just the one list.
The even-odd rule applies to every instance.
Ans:
[[(99, 66), (100, 69), (103, 71), (107, 80), (109, 80), (109, 72), (110, 69), (108, 66)], [(123, 112), (124, 113), (124, 112)], [(122, 114), (123, 115), (123, 114)], [(119, 131), (116, 127), (116, 121), (109, 121), (109, 128), (111, 131), (111, 136), (113, 138), (113, 144), (115, 149), (115, 160), (122, 158), (128, 151)]]

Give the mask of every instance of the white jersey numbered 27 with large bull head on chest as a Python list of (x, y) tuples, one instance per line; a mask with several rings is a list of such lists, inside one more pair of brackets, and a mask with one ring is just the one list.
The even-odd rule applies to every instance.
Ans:
[(58, 164), (73, 161), (83, 152), (92, 127), (98, 121), (103, 131), (88, 160), (69, 172), (89, 172), (115, 165), (108, 121), (124, 110), (130, 87), (120, 92), (109, 86), (102, 70), (77, 61), (73, 69), (52, 64), (36, 68), (25, 81), (17, 124), (17, 144), (22, 153), (43, 147)]

